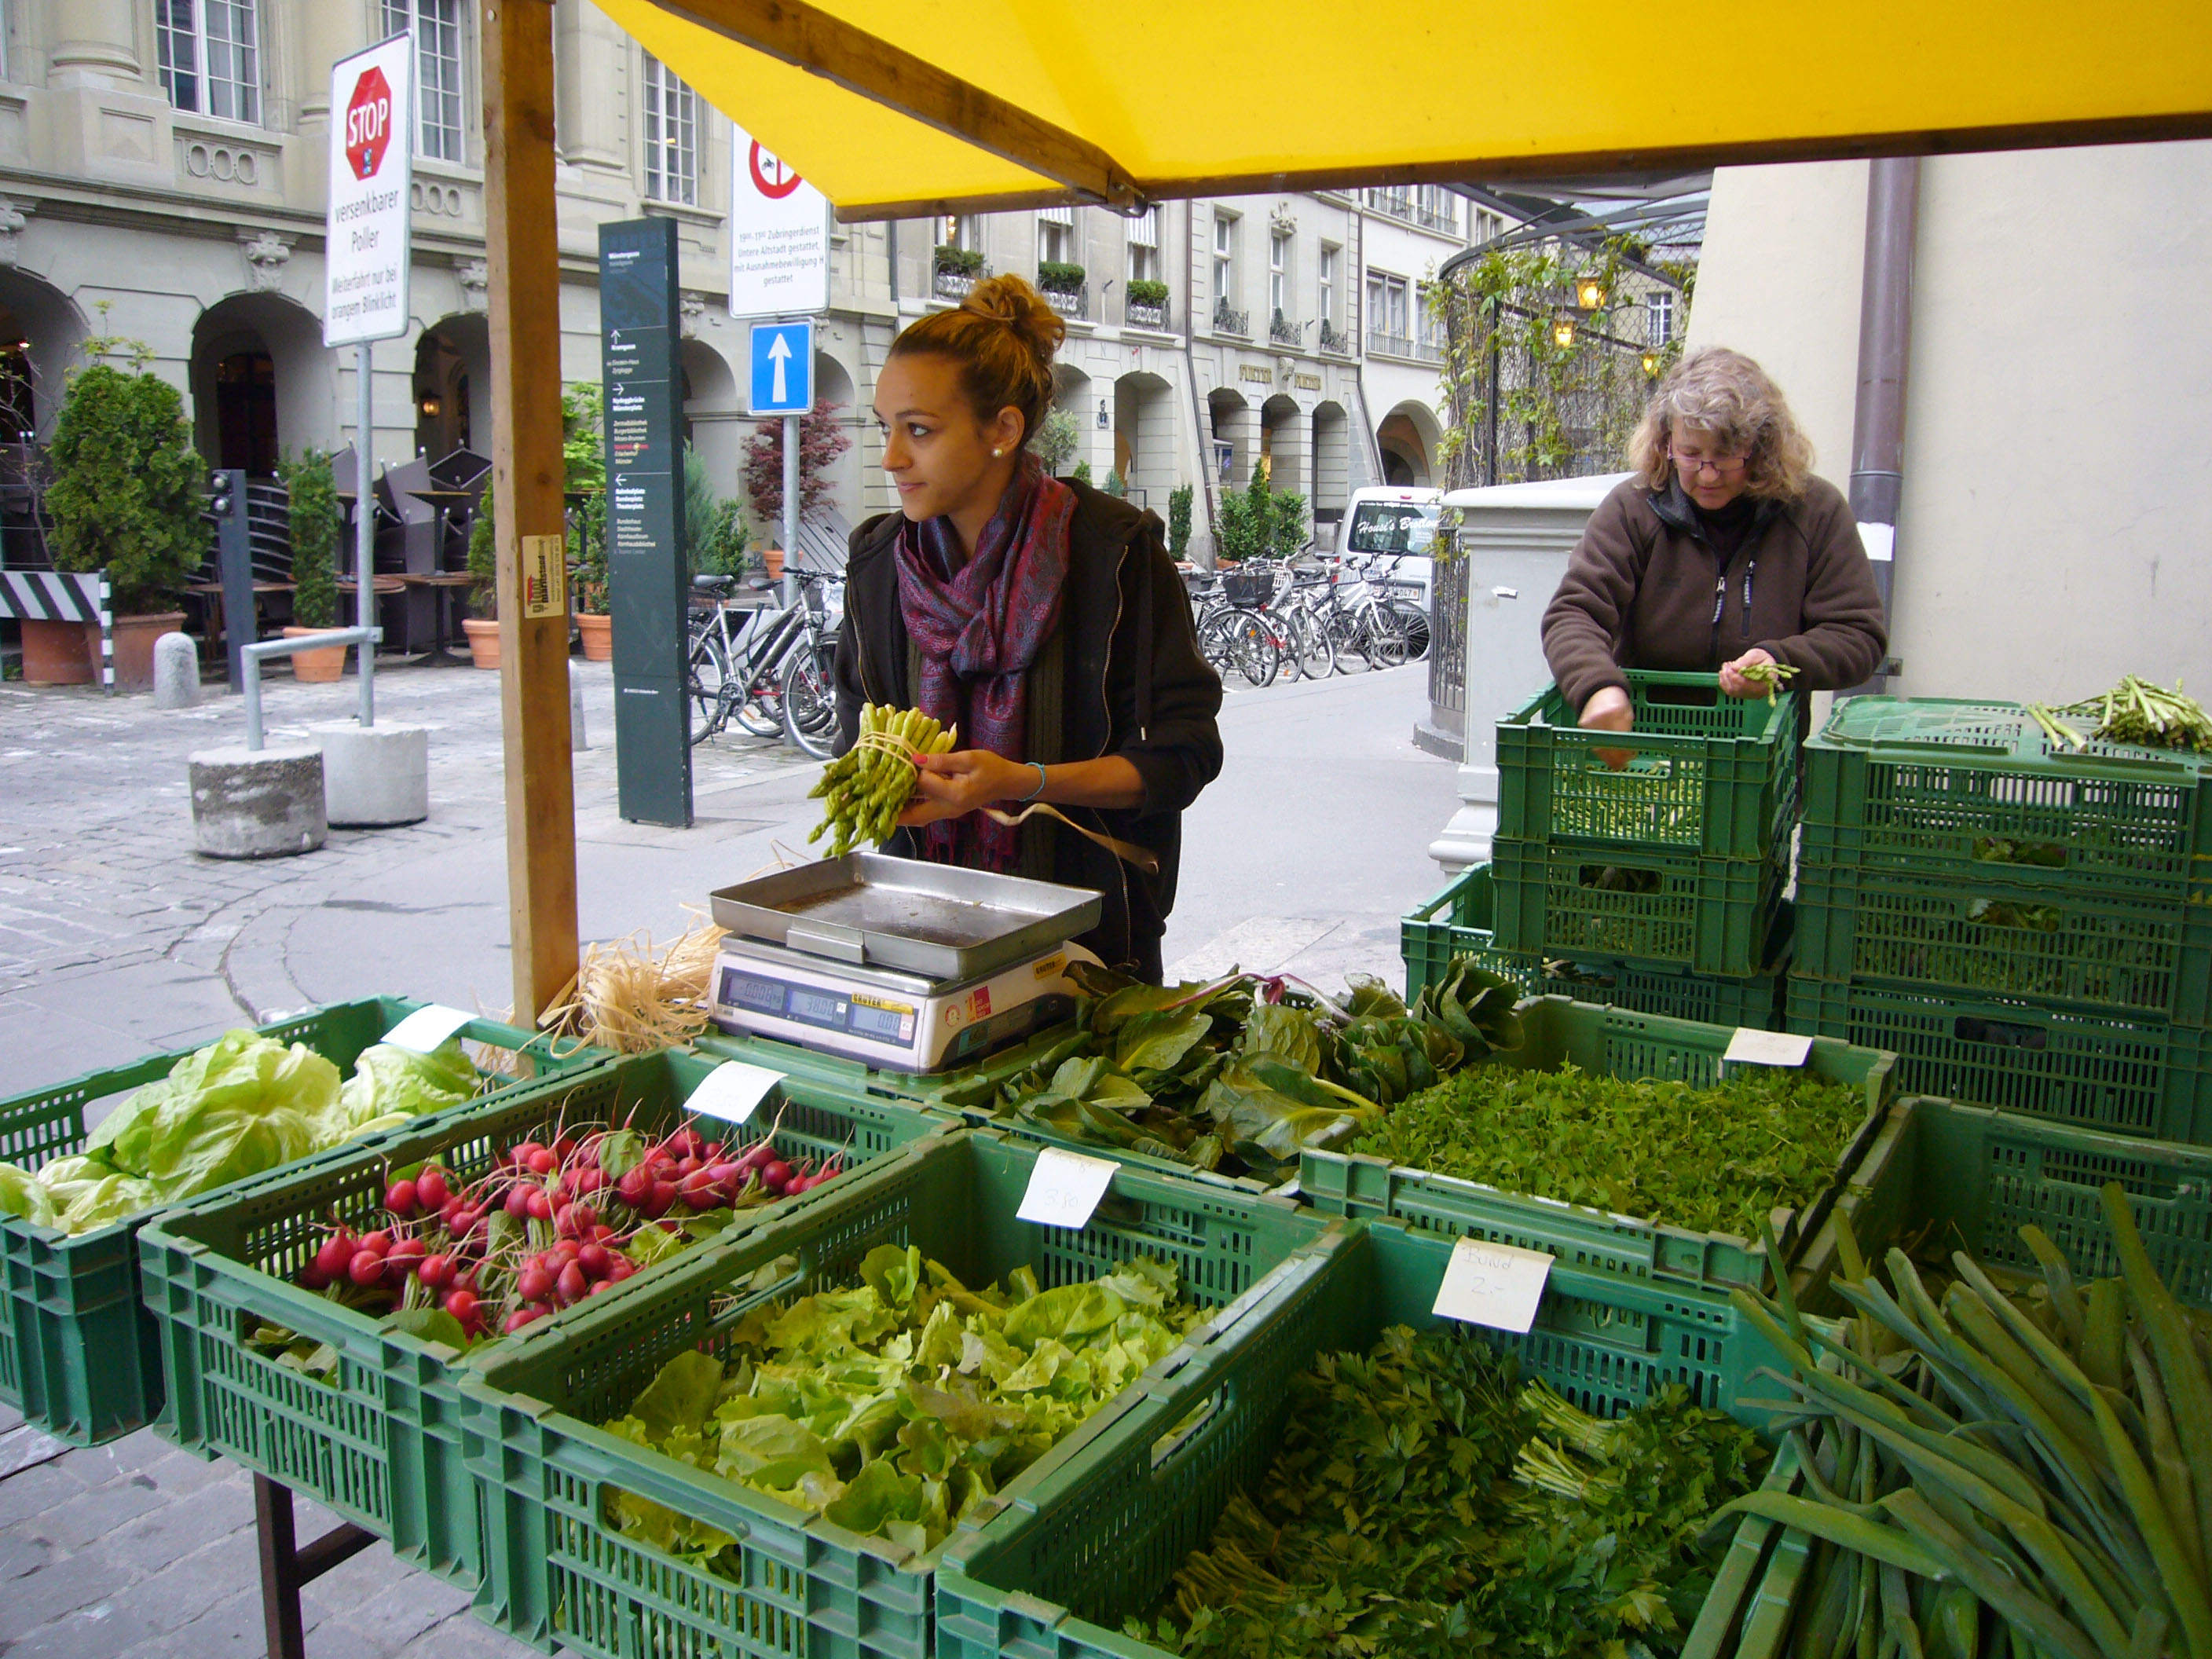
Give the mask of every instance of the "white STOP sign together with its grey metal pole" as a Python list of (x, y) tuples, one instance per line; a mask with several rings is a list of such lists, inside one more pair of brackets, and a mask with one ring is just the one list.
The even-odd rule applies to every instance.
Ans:
[[(407, 332), (414, 252), (414, 38), (392, 35), (330, 69), (330, 217), (323, 226), (323, 345), (358, 347), (354, 438), (354, 622), (361, 641), (361, 723), (376, 723), (376, 341)], [(248, 611), (248, 615), (252, 615)]]

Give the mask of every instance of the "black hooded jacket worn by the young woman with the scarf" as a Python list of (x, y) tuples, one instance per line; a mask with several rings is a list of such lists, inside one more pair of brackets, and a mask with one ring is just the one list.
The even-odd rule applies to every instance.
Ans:
[[(1175, 907), (1181, 814), (1221, 772), (1221, 677), (1190, 626), (1183, 582), (1159, 518), (1073, 484), (1068, 586), (1060, 628), (1029, 670), (1029, 759), (1046, 765), (1119, 754), (1144, 779), (1126, 812), (1060, 807), (1077, 823), (1159, 856), (1159, 874), (1115, 858), (1044, 814), (1022, 827), (1022, 874), (1104, 896), (1082, 945), (1108, 967), (1157, 982), (1159, 940)], [(898, 513), (852, 533), (845, 626), (836, 648), (838, 752), (860, 732), (860, 703), (909, 708), (918, 650), (898, 611)], [(918, 858), (900, 830), (885, 847)]]

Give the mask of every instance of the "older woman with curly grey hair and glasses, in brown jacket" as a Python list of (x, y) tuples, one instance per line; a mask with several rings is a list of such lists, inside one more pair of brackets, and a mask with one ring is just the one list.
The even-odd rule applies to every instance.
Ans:
[(1628, 445), (1635, 476), (1590, 515), (1544, 611), (1544, 657), (1582, 726), (1626, 732), (1628, 668), (1721, 675), (1765, 695), (1752, 664), (1798, 690), (1856, 686), (1889, 646), (1858, 522), (1812, 476), (1812, 445), (1741, 352), (1690, 352)]

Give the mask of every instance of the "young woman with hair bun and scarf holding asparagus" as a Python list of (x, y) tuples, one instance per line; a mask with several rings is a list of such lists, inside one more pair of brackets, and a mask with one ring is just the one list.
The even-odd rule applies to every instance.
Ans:
[[(1079, 942), (1159, 980), (1181, 812), (1221, 772), (1221, 679), (1159, 520), (1048, 478), (1026, 449), (1064, 334), (1037, 290), (991, 276), (891, 345), (876, 422), (900, 511), (852, 535), (841, 748), (863, 701), (958, 726), (960, 750), (922, 759), (889, 852), (1095, 889), (1106, 909)], [(1009, 827), (982, 812), (1037, 801), (1159, 872), (1046, 814)]]

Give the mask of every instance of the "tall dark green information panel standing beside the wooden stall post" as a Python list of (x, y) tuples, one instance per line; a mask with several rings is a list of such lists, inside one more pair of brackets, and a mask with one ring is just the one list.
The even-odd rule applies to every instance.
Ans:
[(684, 699), (684, 387), (677, 221), (599, 226), (606, 575), (615, 619), (615, 792), (630, 823), (690, 825)]

